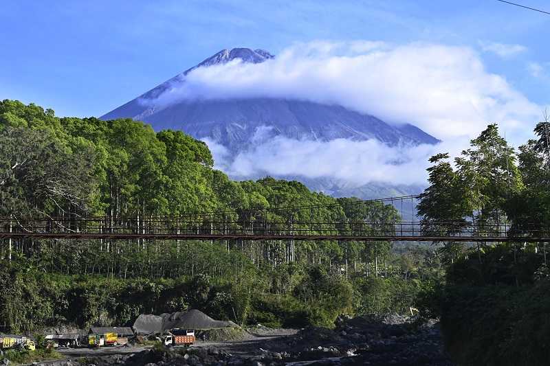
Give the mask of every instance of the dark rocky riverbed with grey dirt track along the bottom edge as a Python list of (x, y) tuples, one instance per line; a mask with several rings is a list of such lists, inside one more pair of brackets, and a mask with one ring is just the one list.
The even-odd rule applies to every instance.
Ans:
[(188, 349), (136, 349), (133, 354), (88, 355), (55, 365), (452, 365), (443, 352), (437, 323), (420, 326), (397, 315), (340, 317), (333, 330), (258, 326), (248, 334), (241, 340), (203, 341)]

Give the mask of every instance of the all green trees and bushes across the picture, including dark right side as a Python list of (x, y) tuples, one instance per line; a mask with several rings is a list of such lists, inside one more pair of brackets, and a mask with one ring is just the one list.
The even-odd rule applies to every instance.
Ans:
[[(430, 159), (417, 206), (423, 230), (441, 236), (476, 225), (550, 223), (550, 122), (511, 148), (489, 124), (459, 157)], [(206, 144), (132, 119), (56, 117), (0, 102), (0, 216), (217, 213), (222, 222), (399, 220), (392, 205), (311, 192), (297, 181), (232, 181)], [(254, 215), (250, 214), (255, 212)], [(264, 217), (265, 218), (265, 217)], [(441, 225), (448, 222), (448, 225)], [(542, 233), (548, 236), (547, 231)], [(441, 319), (459, 363), (537, 365), (550, 357), (547, 243), (292, 242), (291, 240), (5, 239), (0, 249), (1, 332), (46, 326), (124, 325), (137, 315), (199, 308), (238, 324), (333, 326), (338, 314), (407, 313)], [(525, 356), (527, 354), (527, 356)]]

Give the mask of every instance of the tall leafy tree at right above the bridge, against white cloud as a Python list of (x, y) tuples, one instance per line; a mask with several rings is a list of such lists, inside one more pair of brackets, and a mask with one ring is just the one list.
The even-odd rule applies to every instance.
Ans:
[[(448, 154), (430, 158), (430, 186), (417, 206), (425, 235), (453, 236), (469, 228), (478, 235), (498, 235), (509, 222), (511, 198), (523, 188), (514, 149), (498, 135), (496, 124), (470, 141), (452, 164)], [(479, 249), (479, 248), (478, 248)], [(461, 244), (445, 242), (451, 262), (463, 252)]]

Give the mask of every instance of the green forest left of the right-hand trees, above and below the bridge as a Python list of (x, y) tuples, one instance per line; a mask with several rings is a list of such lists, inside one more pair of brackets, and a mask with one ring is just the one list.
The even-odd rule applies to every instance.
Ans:
[[(228, 225), (267, 220), (296, 230), (310, 220), (338, 222), (328, 229), (347, 233), (399, 219), (391, 205), (351, 205), (357, 198), (337, 200), (270, 177), (232, 181), (213, 167), (206, 144), (179, 131), (155, 133), (132, 119), (58, 118), (33, 104), (0, 102), (5, 230), (24, 230), (25, 218), (36, 216), (107, 216), (110, 224), (131, 217), (145, 229), (157, 216), (212, 211)], [(296, 206), (315, 208), (278, 210)], [(239, 324), (331, 326), (341, 312), (409, 312), (422, 283), (441, 273), (432, 251), (396, 254), (383, 241), (1, 244), (0, 326), (12, 332), (131, 324), (140, 313), (186, 308)]]

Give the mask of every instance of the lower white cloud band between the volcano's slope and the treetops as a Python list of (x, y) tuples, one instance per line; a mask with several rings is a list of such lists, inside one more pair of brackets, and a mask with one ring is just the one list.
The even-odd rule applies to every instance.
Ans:
[[(256, 131), (262, 135), (263, 128)], [(347, 187), (359, 187), (369, 182), (393, 184), (424, 184), (428, 157), (441, 151), (457, 155), (467, 139), (441, 142), (437, 145), (390, 147), (380, 141), (334, 139), (314, 141), (277, 136), (251, 144), (249, 150), (231, 157), (227, 149), (211, 139), (208, 144), (216, 168), (235, 179), (265, 176), (304, 176), (308, 179), (331, 178), (345, 181)]]

